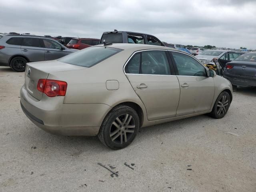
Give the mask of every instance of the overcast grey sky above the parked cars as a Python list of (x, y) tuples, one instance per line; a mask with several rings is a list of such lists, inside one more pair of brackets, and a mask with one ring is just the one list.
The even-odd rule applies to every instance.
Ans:
[(256, 0), (0, 0), (0, 32), (100, 38), (152, 34), (168, 43), (256, 49)]

